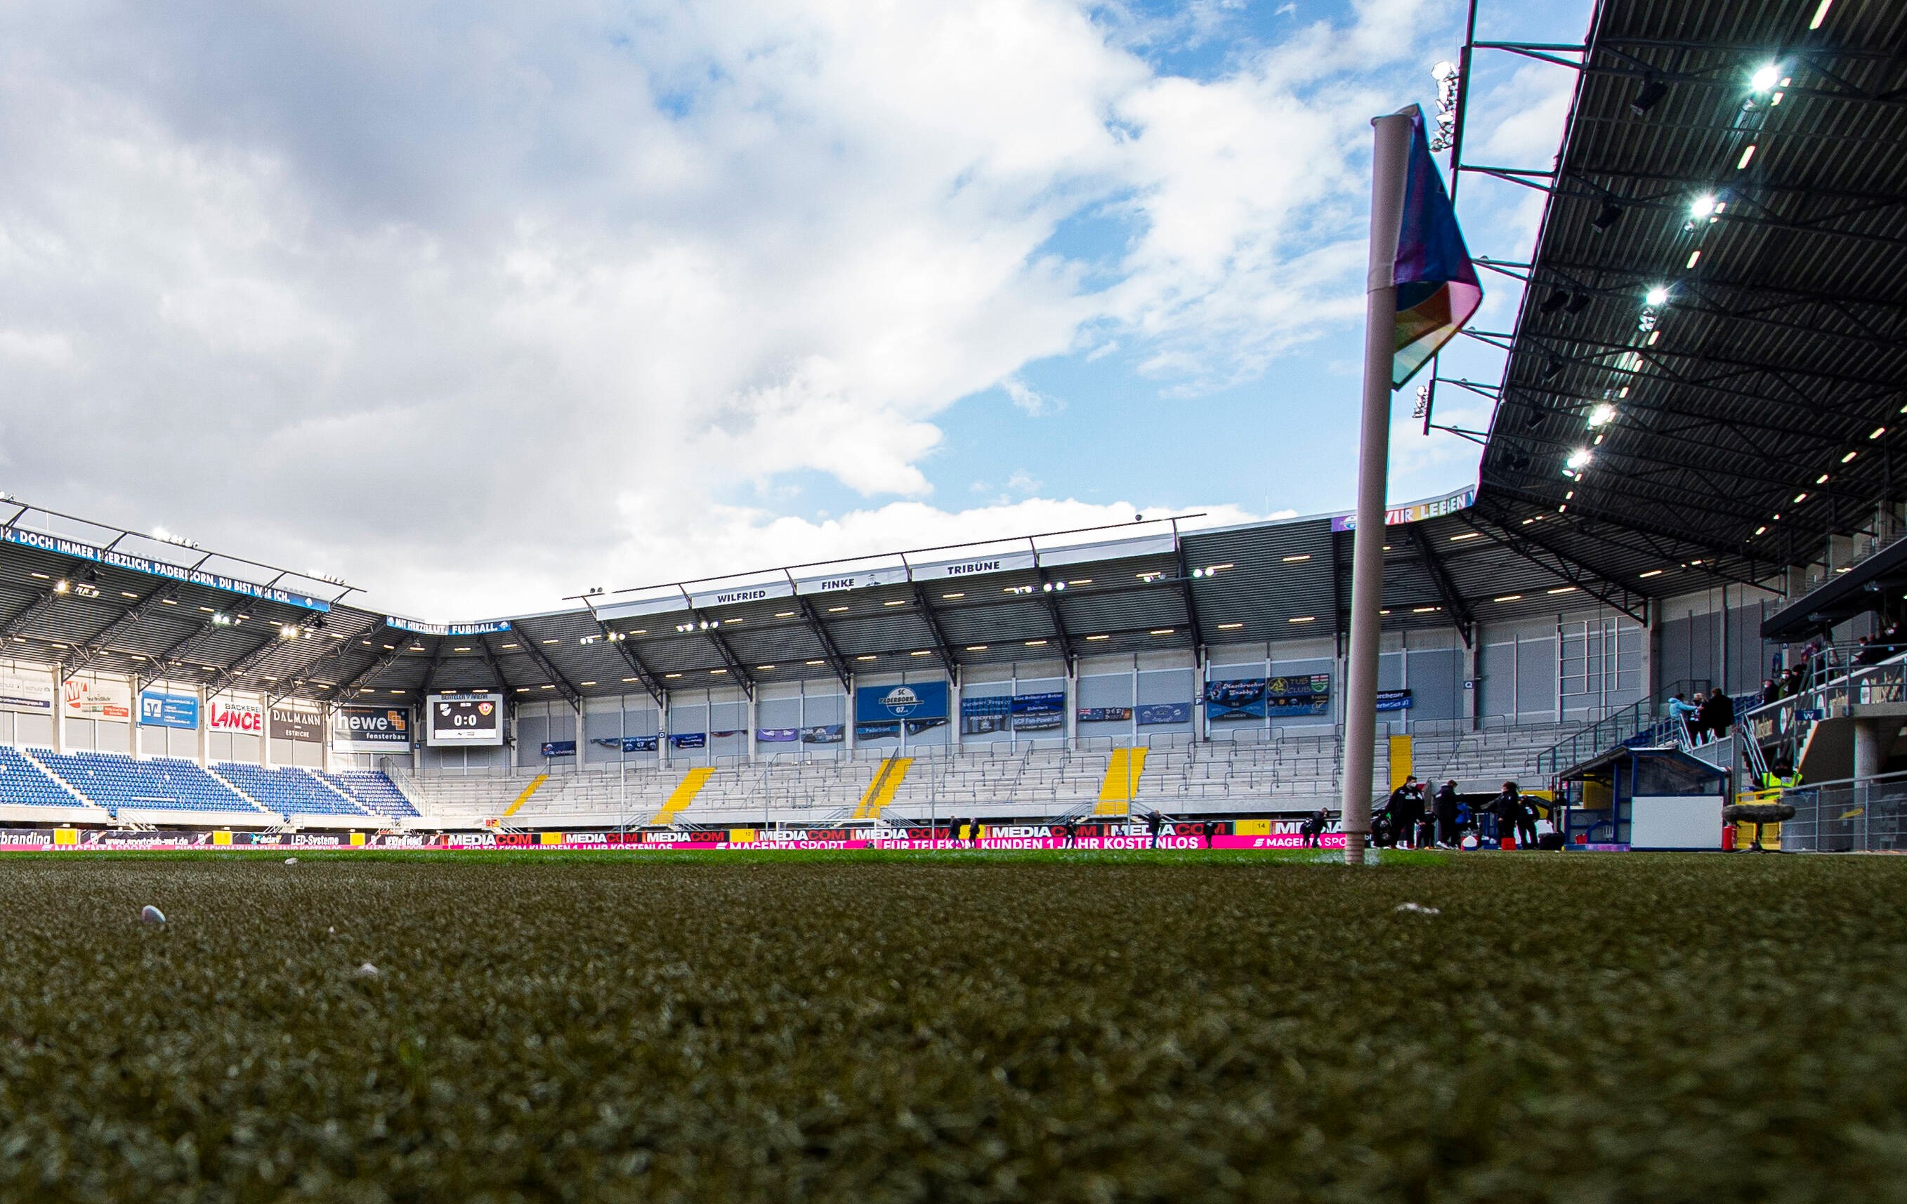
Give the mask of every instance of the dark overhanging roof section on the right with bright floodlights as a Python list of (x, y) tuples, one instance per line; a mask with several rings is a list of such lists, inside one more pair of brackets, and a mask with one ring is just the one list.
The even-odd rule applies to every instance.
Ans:
[(1604, 0), (1587, 46), (1478, 44), (1581, 65), (1554, 170), (1465, 164), (1548, 191), (1499, 265), (1516, 331), (1478, 331), (1508, 349), (1499, 541), (1653, 596), (1815, 562), (1899, 497), (1903, 40), (1890, 0)]

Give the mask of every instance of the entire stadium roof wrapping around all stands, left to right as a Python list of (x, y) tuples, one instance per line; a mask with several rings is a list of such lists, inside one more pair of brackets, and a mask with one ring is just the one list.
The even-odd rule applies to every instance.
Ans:
[[(1474, 505), (1386, 528), (1386, 629), (1470, 640), (1478, 619), (1589, 600), (1640, 621), (1651, 598), (1819, 560), (1899, 497), (1903, 40), (1907, 6), (1888, 0), (1606, 0), (1583, 46), (1476, 44), (1579, 84), (1554, 168), (1463, 164), (1548, 206), (1531, 261), (1495, 265), (1531, 282), (1516, 330), (1478, 331), (1508, 349), (1505, 379), (1463, 383), (1499, 396), (1459, 499)], [(1566, 476), (1573, 452), (1592, 459)], [(320, 577), (187, 572), (196, 549), (21, 507), (0, 524), (0, 638), (69, 671), (267, 697), (753, 690), (1333, 636), (1352, 543), (1333, 526), (1133, 524), (429, 625)], [(950, 575), (963, 558), (999, 566)]]

